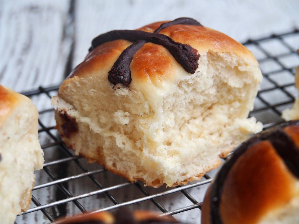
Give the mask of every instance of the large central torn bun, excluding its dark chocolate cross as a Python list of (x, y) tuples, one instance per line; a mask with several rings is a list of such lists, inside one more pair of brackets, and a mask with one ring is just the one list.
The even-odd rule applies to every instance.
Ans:
[[(154, 32), (163, 22), (142, 27)], [(200, 54), (188, 73), (163, 46), (145, 43), (130, 64), (132, 82), (107, 76), (132, 42), (91, 50), (52, 98), (57, 129), (76, 154), (130, 181), (159, 187), (199, 180), (262, 124), (247, 118), (262, 74), (252, 53), (235, 40), (197, 25), (159, 33)]]

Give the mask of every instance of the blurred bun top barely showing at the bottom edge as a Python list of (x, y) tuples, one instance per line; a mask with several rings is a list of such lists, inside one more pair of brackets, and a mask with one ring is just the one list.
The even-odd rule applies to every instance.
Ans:
[(90, 212), (80, 215), (74, 215), (66, 218), (60, 218), (53, 224), (83, 224), (83, 223), (101, 223), (101, 224), (170, 224), (178, 223), (171, 216), (158, 216), (159, 214), (152, 211), (129, 211), (121, 209), (116, 214), (110, 212)]

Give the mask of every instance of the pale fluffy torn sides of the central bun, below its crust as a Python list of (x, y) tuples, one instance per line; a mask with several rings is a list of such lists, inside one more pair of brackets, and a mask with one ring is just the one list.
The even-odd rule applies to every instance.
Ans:
[(247, 118), (262, 78), (250, 62), (208, 51), (194, 74), (181, 69), (171, 81), (132, 80), (129, 88), (113, 87), (105, 72), (75, 76), (52, 99), (60, 133), (65, 116), (77, 127), (62, 139), (130, 181), (159, 187), (200, 179), (262, 129)]

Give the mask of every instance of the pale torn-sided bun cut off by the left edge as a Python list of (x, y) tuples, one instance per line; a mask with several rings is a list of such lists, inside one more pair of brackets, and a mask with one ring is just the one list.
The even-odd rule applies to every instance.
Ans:
[(43, 167), (38, 111), (26, 96), (0, 85), (0, 220), (12, 224), (31, 202), (35, 170)]

